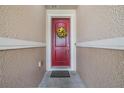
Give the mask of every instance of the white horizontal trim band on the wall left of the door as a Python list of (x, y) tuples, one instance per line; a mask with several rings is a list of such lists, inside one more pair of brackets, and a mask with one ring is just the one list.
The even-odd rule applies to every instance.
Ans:
[(45, 43), (0, 37), (0, 50), (45, 47)]

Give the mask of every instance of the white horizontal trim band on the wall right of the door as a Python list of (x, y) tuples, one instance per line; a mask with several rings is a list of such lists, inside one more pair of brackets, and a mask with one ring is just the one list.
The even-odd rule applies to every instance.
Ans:
[(87, 41), (87, 42), (77, 42), (76, 46), (124, 50), (124, 37), (116, 37), (116, 38)]

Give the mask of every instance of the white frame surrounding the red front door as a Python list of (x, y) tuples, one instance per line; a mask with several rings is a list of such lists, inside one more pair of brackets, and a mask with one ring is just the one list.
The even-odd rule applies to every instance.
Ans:
[[(76, 71), (76, 10), (47, 10), (46, 11), (46, 70), (69, 70)], [(70, 67), (53, 68), (51, 65), (51, 19), (70, 18)]]

